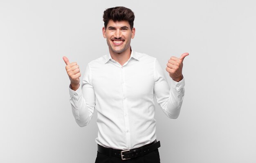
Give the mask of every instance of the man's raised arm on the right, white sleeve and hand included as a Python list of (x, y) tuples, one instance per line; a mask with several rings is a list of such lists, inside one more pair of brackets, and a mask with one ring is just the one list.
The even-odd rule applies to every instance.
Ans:
[[(168, 61), (168, 67), (166, 70), (171, 77), (171, 79), (169, 78), (171, 80), (171, 88), (168, 85), (162, 67), (157, 59), (155, 60), (154, 94), (161, 109), (164, 111), (167, 117), (172, 119), (176, 119), (180, 115), (180, 108), (184, 98), (185, 81), (182, 75), (182, 62), (184, 57), (187, 55), (188, 53), (184, 53), (180, 60), (171, 57), (171, 59)], [(175, 59), (175, 61), (173, 59)]]

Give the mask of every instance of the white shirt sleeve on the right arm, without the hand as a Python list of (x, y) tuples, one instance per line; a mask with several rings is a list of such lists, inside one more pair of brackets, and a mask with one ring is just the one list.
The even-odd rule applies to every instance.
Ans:
[(154, 84), (154, 95), (157, 103), (167, 115), (167, 117), (176, 119), (180, 114), (180, 108), (184, 98), (184, 78), (176, 82), (171, 80), (171, 88), (168, 85), (164, 70), (160, 66), (157, 59), (155, 59), (155, 84)]

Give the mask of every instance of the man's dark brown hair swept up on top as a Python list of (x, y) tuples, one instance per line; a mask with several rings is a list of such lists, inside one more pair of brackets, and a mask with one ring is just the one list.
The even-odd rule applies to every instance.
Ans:
[(132, 10), (126, 7), (112, 7), (112, 8), (106, 9), (103, 14), (103, 21), (104, 21), (105, 28), (107, 28), (109, 20), (113, 20), (114, 22), (127, 20), (132, 30), (134, 18), (135, 16)]

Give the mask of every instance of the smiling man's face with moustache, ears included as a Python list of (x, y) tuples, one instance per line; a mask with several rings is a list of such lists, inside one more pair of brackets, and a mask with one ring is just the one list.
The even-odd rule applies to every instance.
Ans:
[(130, 28), (128, 21), (108, 21), (107, 27), (102, 28), (103, 37), (106, 38), (108, 48), (115, 53), (122, 53), (130, 48), (131, 39), (134, 38), (135, 28)]

